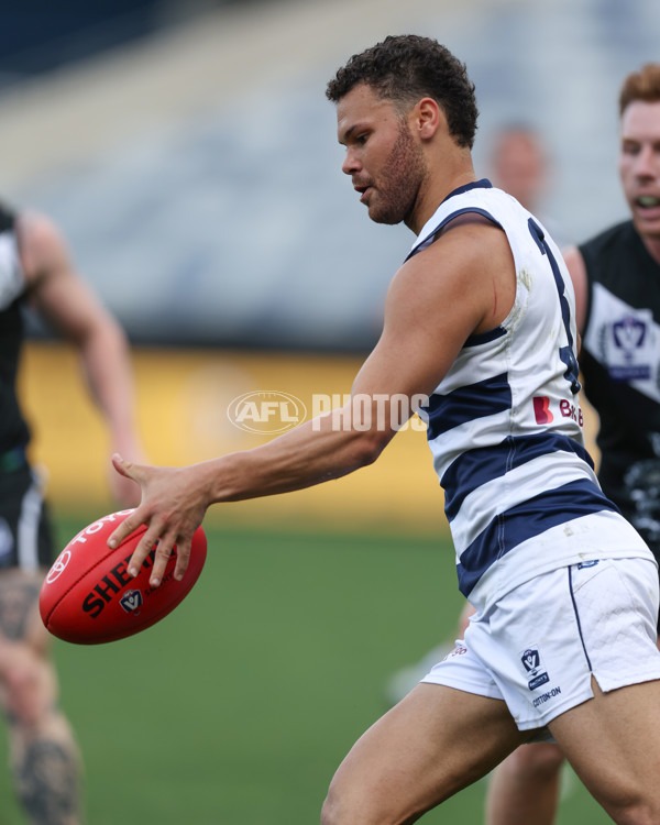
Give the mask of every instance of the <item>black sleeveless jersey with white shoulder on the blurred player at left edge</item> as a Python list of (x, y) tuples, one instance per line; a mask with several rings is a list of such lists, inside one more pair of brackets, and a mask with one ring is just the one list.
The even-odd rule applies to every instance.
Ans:
[(15, 215), (0, 206), (0, 458), (30, 440), (15, 389), (26, 286), (14, 228)]

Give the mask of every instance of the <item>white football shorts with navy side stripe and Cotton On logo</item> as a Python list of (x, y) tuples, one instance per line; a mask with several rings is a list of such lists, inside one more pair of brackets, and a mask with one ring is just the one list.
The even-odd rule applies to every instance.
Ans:
[(660, 679), (658, 598), (651, 557), (561, 568), (476, 613), (421, 681), (504, 700), (519, 730), (543, 728), (593, 697), (592, 675), (604, 692)]

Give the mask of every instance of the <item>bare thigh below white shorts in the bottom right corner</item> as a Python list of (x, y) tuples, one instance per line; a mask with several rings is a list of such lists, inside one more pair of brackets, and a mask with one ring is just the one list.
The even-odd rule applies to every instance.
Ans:
[(660, 681), (602, 693), (549, 728), (580, 779), (619, 825), (660, 823)]

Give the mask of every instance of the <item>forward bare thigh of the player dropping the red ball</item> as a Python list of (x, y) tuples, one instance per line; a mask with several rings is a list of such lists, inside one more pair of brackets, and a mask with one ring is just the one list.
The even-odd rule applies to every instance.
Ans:
[(504, 701), (419, 684), (353, 746), (330, 785), (323, 823), (414, 822), (525, 737)]

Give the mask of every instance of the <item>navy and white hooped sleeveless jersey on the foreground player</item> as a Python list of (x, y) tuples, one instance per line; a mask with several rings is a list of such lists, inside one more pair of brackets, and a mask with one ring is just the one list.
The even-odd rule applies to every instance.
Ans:
[(603, 495), (584, 449), (574, 293), (541, 224), (480, 180), (440, 205), (410, 255), (464, 212), (506, 233), (516, 297), (499, 327), (465, 341), (425, 411), (459, 586), (484, 609), (549, 570), (650, 553)]

